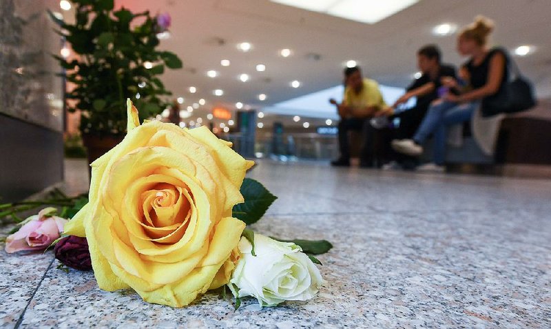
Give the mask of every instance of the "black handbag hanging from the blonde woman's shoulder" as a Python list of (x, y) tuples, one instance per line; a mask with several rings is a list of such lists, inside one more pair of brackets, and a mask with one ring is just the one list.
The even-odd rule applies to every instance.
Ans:
[(508, 56), (508, 52), (506, 50), (501, 50), (501, 52), (506, 57), (510, 79), (504, 83), (497, 94), (482, 99), (482, 117), (522, 112), (536, 105), (532, 83), (521, 74), (517, 63)]

